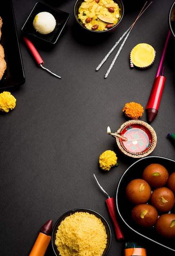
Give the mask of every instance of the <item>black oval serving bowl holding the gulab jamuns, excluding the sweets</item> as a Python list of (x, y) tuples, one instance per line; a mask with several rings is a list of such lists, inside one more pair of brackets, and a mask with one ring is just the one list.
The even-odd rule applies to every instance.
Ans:
[(134, 205), (126, 198), (125, 191), (127, 184), (133, 179), (142, 178), (144, 168), (153, 163), (162, 164), (167, 169), (169, 175), (175, 171), (175, 160), (159, 156), (144, 157), (131, 164), (123, 173), (117, 186), (117, 211), (125, 225), (136, 234), (175, 252), (174, 238), (163, 238), (157, 234), (155, 227), (143, 228), (133, 222), (131, 211)]

